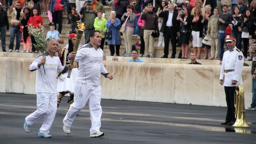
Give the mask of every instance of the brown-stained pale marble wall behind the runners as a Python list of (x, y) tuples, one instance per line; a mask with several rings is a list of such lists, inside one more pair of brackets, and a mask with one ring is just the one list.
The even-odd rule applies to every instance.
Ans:
[[(35, 94), (33, 58), (0, 57), (0, 92)], [(160, 103), (226, 106), (219, 65), (104, 61), (113, 80), (101, 77), (102, 98)], [(250, 67), (243, 67), (245, 106), (252, 100)]]

